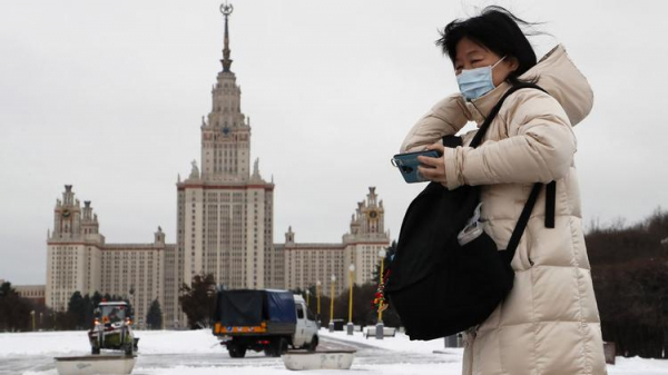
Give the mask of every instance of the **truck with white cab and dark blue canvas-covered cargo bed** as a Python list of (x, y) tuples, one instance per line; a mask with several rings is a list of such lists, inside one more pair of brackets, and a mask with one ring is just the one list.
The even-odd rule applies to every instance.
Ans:
[(289, 347), (315, 352), (318, 344), (315, 316), (299, 295), (275, 289), (218, 290), (214, 335), (229, 356), (246, 351), (278, 357)]

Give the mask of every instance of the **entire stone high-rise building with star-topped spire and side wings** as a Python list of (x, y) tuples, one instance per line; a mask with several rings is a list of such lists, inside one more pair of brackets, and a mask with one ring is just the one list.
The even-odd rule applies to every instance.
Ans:
[(230, 289), (305, 289), (320, 280), (323, 292), (330, 290), (334, 275), (338, 294), (350, 285), (348, 267), (354, 265), (354, 283), (372, 280), (379, 250), (390, 246), (383, 203), (373, 187), (357, 204), (341, 243), (296, 243), (289, 228), (285, 243), (274, 244), (275, 185), (262, 177), (258, 160), (250, 166), (250, 121), (230, 70), (232, 7), (222, 10), (222, 70), (212, 89), (210, 111), (199, 126), (202, 169), (193, 161), (188, 177), (176, 182), (176, 244), (166, 244), (159, 227), (153, 243), (107, 244), (90, 201), (81, 207), (66, 186), (47, 241), (45, 297), (56, 310), (66, 310), (77, 290), (99, 292), (130, 299), (139, 319), (157, 298), (165, 327), (184, 327), (179, 288), (198, 274), (212, 274)]

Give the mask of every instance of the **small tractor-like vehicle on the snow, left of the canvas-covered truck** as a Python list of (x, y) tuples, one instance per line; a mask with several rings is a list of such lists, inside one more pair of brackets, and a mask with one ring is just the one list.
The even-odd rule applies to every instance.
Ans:
[(88, 332), (90, 353), (100, 349), (122, 351), (126, 355), (137, 352), (139, 338), (132, 333), (132, 320), (125, 302), (101, 302), (96, 308), (94, 327)]

